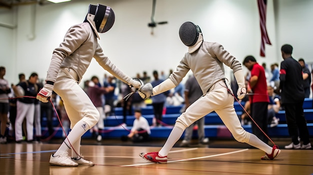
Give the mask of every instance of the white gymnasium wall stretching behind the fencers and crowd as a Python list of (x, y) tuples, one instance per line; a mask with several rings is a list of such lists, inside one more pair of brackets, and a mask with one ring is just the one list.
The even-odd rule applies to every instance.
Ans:
[[(142, 74), (144, 70), (151, 75), (154, 69), (167, 74), (187, 51), (179, 39), (178, 29), (189, 20), (201, 27), (206, 41), (221, 43), (240, 61), (252, 54), (260, 63), (280, 62), (279, 50), (285, 42), (294, 46), (294, 55), (313, 61), (309, 57), (312, 38), (309, 16), (312, 16), (313, 1), (277, 1), (267, 2), (267, 30), (272, 45), (265, 46), (264, 58), (259, 56), (256, 0), (157, 0), (154, 19), (168, 23), (153, 28), (153, 35), (147, 27), (152, 0), (106, 0), (103, 4), (112, 7), (116, 18), (108, 32), (100, 33), (99, 43), (104, 53), (129, 76)], [(62, 41), (68, 27), (83, 21), (89, 3), (98, 1), (72, 0), (0, 9), (0, 23), (14, 25), (15, 20), (17, 24), (16, 29), (0, 26), (0, 65), (7, 67), (5, 78), (15, 83), (19, 72), (28, 77), (36, 71), (44, 79), (53, 49)], [(92, 61), (83, 80), (92, 75), (101, 78), (104, 72)], [(226, 75), (230, 73), (226, 68)]]

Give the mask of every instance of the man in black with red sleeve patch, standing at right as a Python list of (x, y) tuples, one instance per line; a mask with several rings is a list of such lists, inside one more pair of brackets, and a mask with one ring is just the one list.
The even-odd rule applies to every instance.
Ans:
[[(303, 101), (303, 77), (302, 67), (292, 56), (292, 46), (284, 44), (281, 46), (281, 56), (283, 61), (280, 63), (280, 88), (281, 104), (285, 109), (286, 122), (292, 142), (285, 149), (309, 149), (309, 133), (304, 118)], [(298, 136), (303, 141), (301, 145)]]

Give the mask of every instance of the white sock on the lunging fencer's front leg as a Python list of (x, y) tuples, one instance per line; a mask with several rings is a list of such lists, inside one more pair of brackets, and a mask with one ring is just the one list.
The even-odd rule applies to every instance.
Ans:
[(168, 154), (169, 150), (174, 146), (174, 144), (178, 141), (178, 139), (181, 137), (183, 133), (183, 130), (174, 126), (171, 130), (165, 144), (161, 148), (161, 150), (158, 152), (159, 156), (165, 156)]

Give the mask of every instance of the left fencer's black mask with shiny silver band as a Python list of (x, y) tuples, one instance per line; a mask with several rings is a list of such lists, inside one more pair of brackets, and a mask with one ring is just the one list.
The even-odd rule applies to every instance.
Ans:
[(99, 33), (109, 30), (115, 21), (115, 15), (111, 7), (97, 4), (94, 19), (95, 28)]

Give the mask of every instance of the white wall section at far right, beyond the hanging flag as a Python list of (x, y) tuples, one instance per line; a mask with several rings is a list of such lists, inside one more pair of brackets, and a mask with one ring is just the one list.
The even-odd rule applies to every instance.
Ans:
[(313, 62), (313, 0), (278, 0), (277, 3), (278, 48), (289, 43), (295, 59), (302, 57), (306, 62)]

